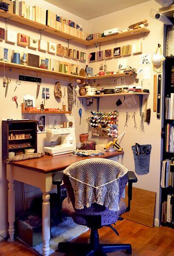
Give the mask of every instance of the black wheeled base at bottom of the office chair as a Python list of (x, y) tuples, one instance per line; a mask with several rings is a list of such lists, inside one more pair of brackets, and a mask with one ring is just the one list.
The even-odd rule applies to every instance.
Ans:
[(131, 244), (98, 244), (93, 247), (91, 244), (80, 243), (59, 243), (58, 251), (61, 253), (77, 253), (80, 256), (106, 256), (106, 253), (125, 250), (132, 253)]

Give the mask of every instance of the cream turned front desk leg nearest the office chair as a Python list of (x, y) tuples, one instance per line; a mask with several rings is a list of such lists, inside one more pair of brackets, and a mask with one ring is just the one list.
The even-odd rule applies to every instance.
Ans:
[(49, 193), (43, 192), (42, 203), (42, 239), (43, 239), (43, 254), (49, 255), (49, 239), (50, 239), (50, 203)]

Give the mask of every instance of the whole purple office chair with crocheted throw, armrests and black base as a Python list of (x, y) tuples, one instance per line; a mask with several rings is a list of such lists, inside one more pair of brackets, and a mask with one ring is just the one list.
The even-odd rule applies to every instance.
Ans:
[[(73, 218), (79, 225), (90, 228), (90, 243), (61, 242), (58, 251), (62, 253), (78, 253), (84, 256), (106, 256), (105, 253), (125, 250), (131, 254), (131, 244), (100, 244), (98, 229), (122, 220), (120, 215), (130, 211), (132, 199), (132, 183), (137, 182), (134, 172), (121, 164), (102, 158), (90, 158), (78, 161), (64, 170), (64, 185), (68, 198), (62, 203), (62, 211)], [(53, 176), (53, 184), (62, 183), (62, 173)], [(122, 195), (128, 183), (128, 207)], [(59, 194), (60, 198), (60, 194)]]

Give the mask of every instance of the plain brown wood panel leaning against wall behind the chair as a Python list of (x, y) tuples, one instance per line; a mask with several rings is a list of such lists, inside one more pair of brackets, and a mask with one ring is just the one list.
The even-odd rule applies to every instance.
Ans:
[[(126, 187), (126, 202), (128, 186)], [(154, 227), (156, 192), (133, 187), (131, 211), (122, 214), (123, 218)]]

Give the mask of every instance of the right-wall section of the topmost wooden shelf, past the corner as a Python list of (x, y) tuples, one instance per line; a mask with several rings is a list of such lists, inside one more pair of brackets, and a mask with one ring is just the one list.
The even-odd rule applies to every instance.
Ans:
[(93, 45), (96, 43), (104, 43), (104, 42), (119, 39), (119, 38), (125, 38), (125, 37), (129, 37), (129, 36), (140, 35), (140, 34), (149, 33), (149, 32), (150, 32), (150, 30), (146, 29), (146, 28), (133, 29), (130, 31), (119, 33), (117, 35), (110, 35), (110, 36), (106, 36), (103, 38), (93, 39), (93, 40), (90, 40), (89, 42), (91, 43), (91, 45)]

